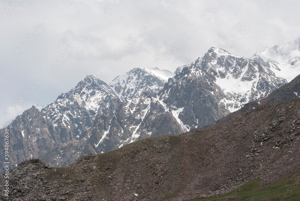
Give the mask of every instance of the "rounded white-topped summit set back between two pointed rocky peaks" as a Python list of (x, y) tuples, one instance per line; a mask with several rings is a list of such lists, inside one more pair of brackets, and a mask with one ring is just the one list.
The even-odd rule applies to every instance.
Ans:
[(175, 74), (158, 68), (135, 68), (120, 75), (110, 82), (110, 87), (119, 95), (120, 99), (137, 98), (143, 93), (155, 97), (164, 87), (169, 78)]

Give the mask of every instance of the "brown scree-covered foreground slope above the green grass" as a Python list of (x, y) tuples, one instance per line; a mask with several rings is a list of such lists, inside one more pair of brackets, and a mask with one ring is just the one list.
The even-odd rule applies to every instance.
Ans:
[[(298, 170), (299, 126), (296, 99), (259, 106), (193, 134), (82, 156), (65, 168), (26, 161), (10, 171), (7, 199), (188, 200), (224, 194), (256, 178), (264, 185)], [(1, 188), (5, 180), (1, 175)]]

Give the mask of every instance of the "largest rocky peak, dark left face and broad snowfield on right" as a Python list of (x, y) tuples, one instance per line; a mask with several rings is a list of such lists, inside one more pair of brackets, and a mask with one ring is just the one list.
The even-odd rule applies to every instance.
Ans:
[(179, 113), (188, 131), (212, 123), (286, 83), (254, 60), (212, 47), (169, 79), (159, 99)]

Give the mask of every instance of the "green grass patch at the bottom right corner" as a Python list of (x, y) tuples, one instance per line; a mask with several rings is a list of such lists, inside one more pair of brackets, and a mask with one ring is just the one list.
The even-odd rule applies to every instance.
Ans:
[(240, 188), (223, 196), (197, 198), (190, 201), (299, 201), (300, 183), (292, 178), (286, 178), (275, 184), (259, 187), (260, 179), (244, 184)]

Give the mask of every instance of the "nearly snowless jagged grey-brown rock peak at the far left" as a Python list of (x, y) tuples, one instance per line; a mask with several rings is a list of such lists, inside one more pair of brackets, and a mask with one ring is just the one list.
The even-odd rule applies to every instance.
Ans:
[[(32, 106), (22, 115), (16, 117), (9, 128), (9, 161), (10, 166), (26, 159), (37, 158), (41, 154), (52, 150), (55, 145), (51, 132), (43, 114)], [(4, 142), (5, 129), (0, 130), (0, 139)], [(4, 156), (4, 143), (0, 145), (0, 154)], [(5, 161), (4, 157), (0, 160)], [(6, 160), (7, 161), (7, 160)]]

